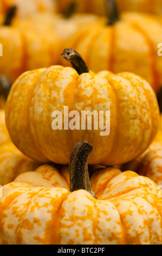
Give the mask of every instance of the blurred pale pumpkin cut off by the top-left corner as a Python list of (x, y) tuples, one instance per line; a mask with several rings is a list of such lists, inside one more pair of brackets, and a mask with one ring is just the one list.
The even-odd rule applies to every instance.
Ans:
[(53, 0), (1, 0), (1, 13), (7, 13), (8, 8), (13, 5), (17, 6), (17, 15), (20, 18), (32, 17), (36, 13), (53, 13), (56, 11), (55, 1)]

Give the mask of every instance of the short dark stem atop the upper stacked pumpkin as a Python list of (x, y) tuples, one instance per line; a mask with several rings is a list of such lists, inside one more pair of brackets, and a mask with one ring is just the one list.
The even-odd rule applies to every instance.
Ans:
[(72, 64), (73, 68), (78, 72), (79, 75), (89, 72), (85, 61), (75, 50), (64, 49), (61, 56)]

